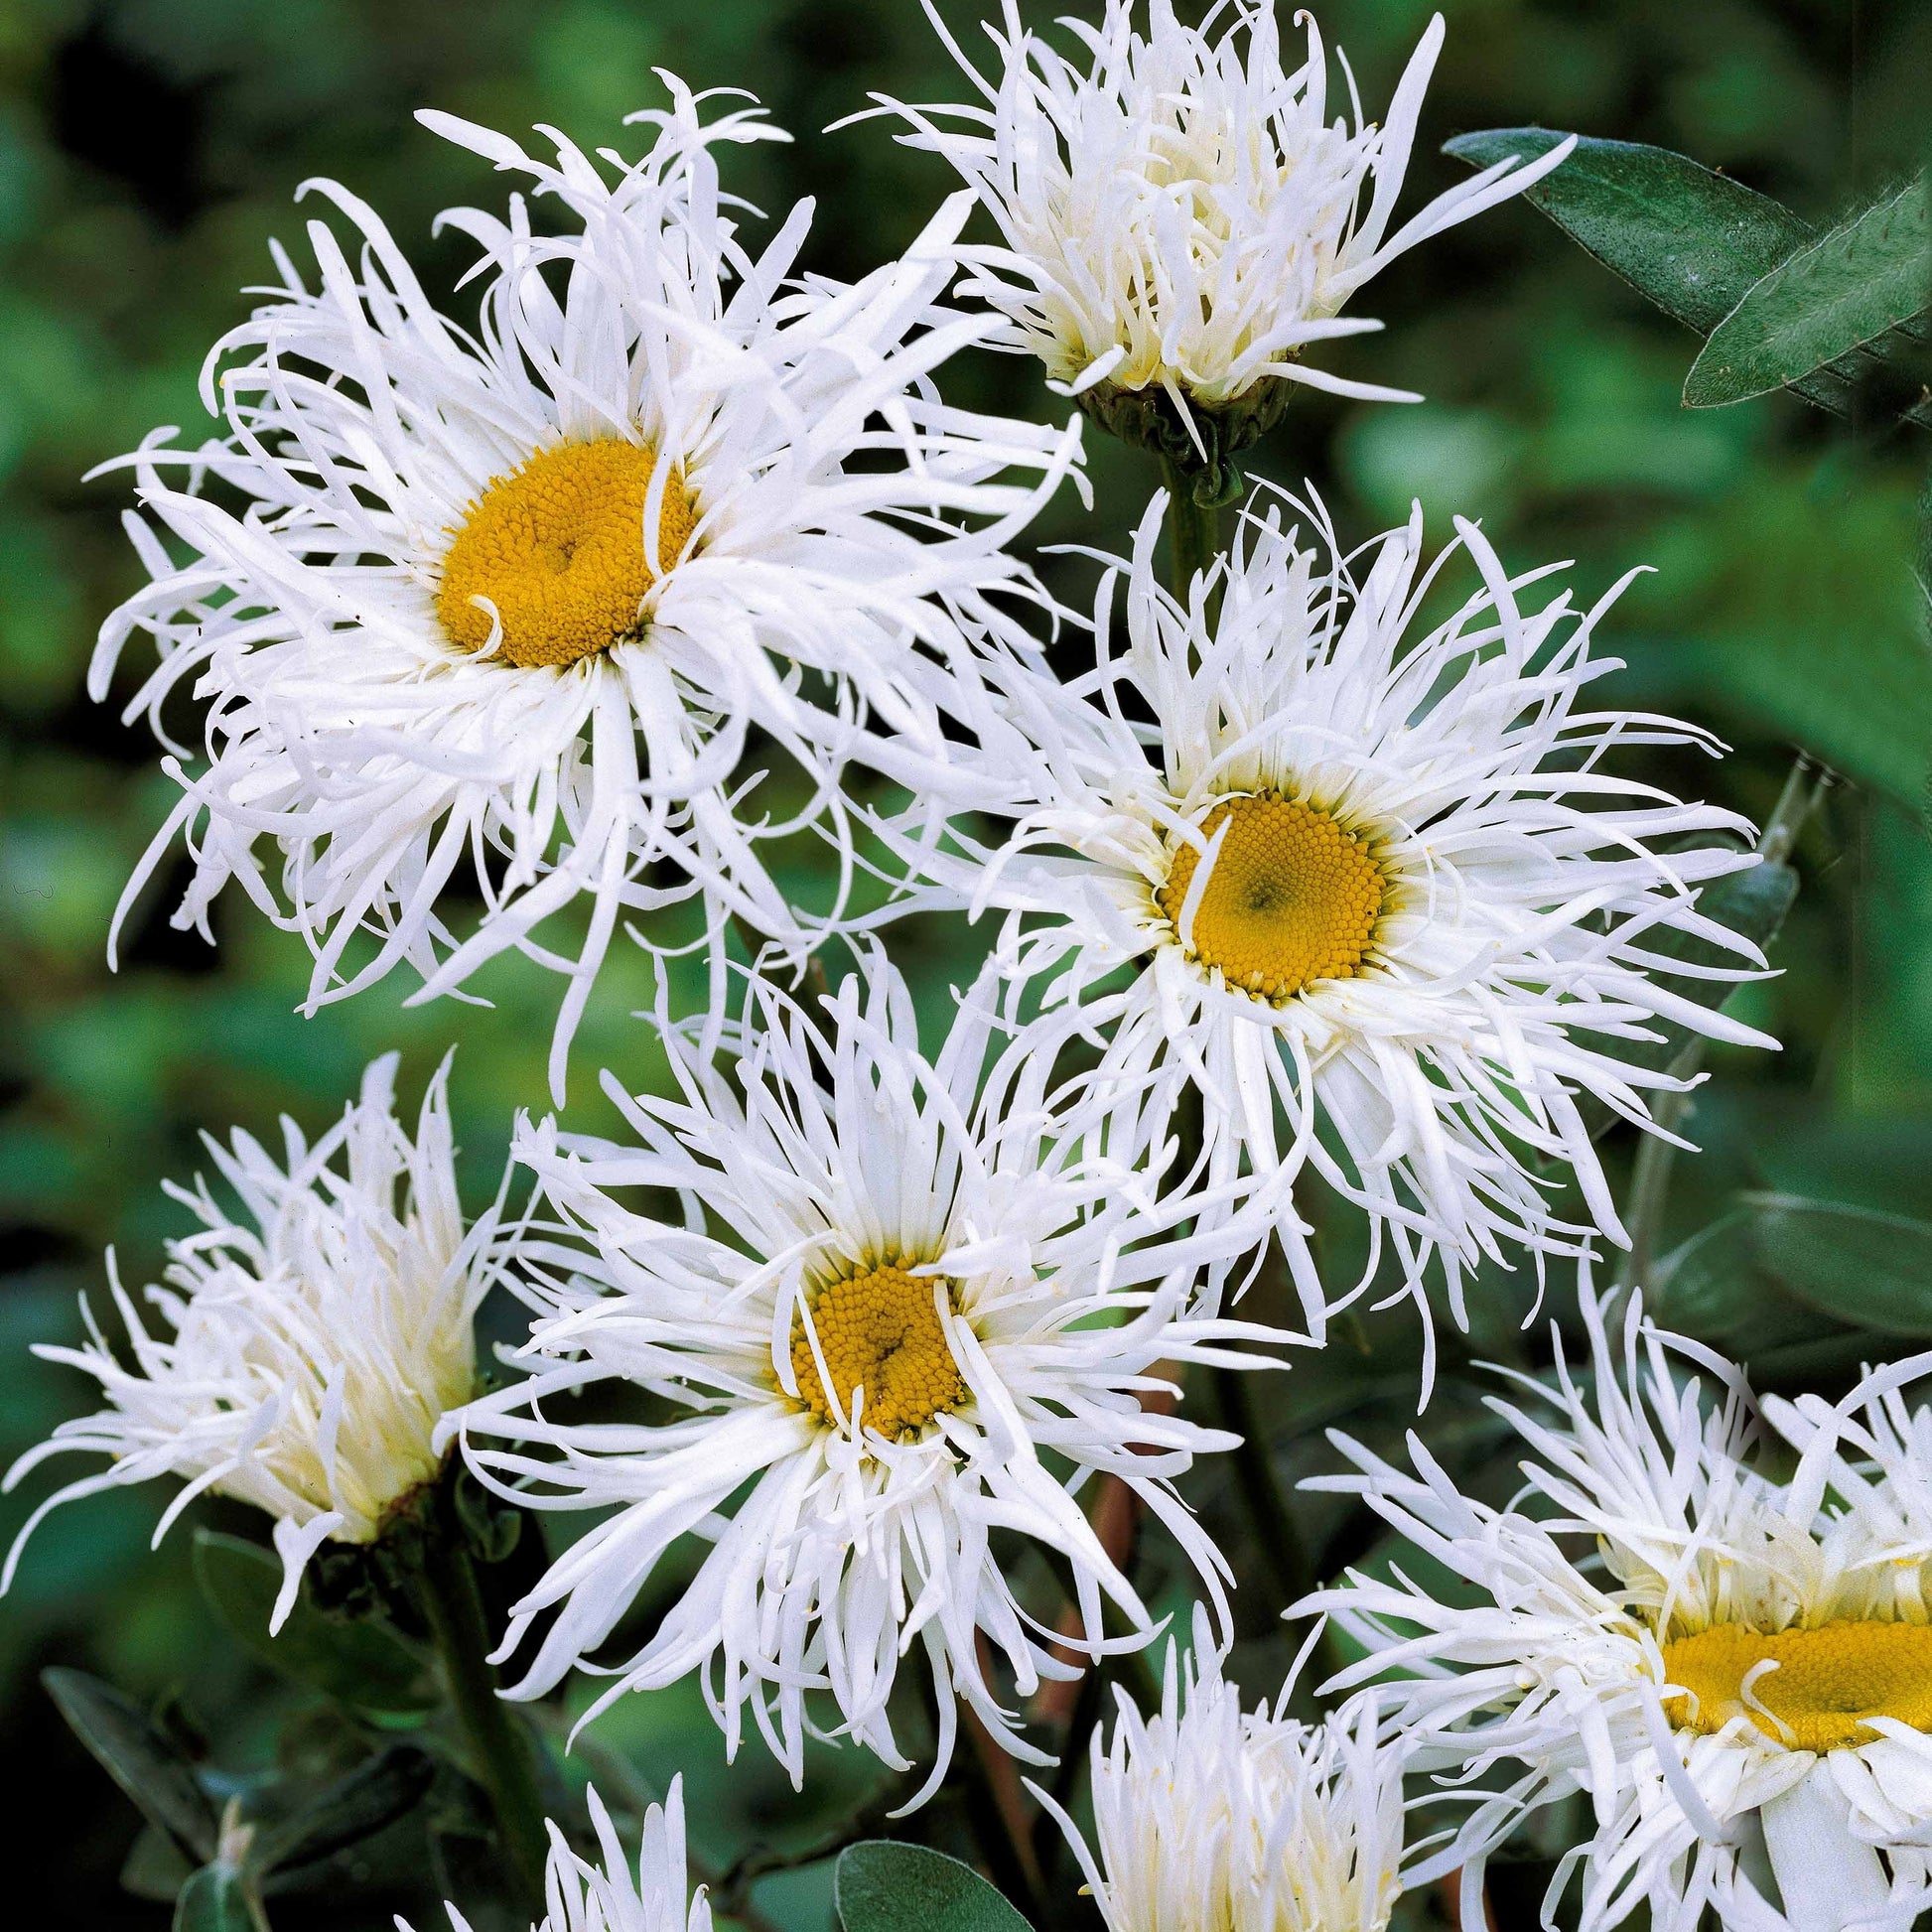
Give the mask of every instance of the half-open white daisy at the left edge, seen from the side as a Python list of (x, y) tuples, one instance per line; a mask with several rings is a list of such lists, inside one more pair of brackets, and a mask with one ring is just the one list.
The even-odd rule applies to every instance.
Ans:
[(315, 1146), (284, 1119), (280, 1163), (240, 1128), (228, 1148), (203, 1136), (243, 1217), (205, 1179), (193, 1188), (164, 1182), (201, 1221), (166, 1244), (166, 1285), (145, 1294), (172, 1335), (149, 1331), (110, 1250), (133, 1368), (116, 1356), (87, 1296), (87, 1343), (33, 1345), (44, 1360), (93, 1376), (106, 1406), (62, 1422), (8, 1470), (4, 1488), (52, 1455), (114, 1461), (33, 1511), (8, 1551), (0, 1592), (50, 1509), (182, 1476), (155, 1542), (203, 1490), (267, 1511), (282, 1557), (270, 1623), (280, 1629), (325, 1540), (375, 1542), (394, 1507), (437, 1474), (437, 1426), (475, 1395), (475, 1312), (504, 1260), (500, 1194), (464, 1227), (448, 1070), (444, 1059), (413, 1138), (394, 1115), (394, 1053), (369, 1065), (361, 1097)]

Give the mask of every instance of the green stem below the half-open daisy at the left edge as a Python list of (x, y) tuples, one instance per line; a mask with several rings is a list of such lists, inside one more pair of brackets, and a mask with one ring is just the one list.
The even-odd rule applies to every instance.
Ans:
[(522, 1893), (518, 1903), (533, 1918), (541, 1918), (543, 1866), (551, 1839), (543, 1822), (537, 1764), (527, 1733), (497, 1694), (483, 1594), (477, 1590), (446, 1482), (439, 1484), (423, 1528), (417, 1575), (423, 1615), (442, 1658), (450, 1702), (497, 1812), (504, 1857)]

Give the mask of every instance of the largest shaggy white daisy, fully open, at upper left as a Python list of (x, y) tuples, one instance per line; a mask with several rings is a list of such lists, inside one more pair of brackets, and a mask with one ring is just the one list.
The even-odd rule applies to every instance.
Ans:
[[(713, 933), (738, 916), (800, 956), (761, 840), (817, 825), (850, 860), (850, 759), (947, 786), (987, 715), (976, 649), (1018, 638), (987, 595), (1030, 595), (1001, 543), (1078, 454), (1078, 425), (937, 400), (933, 369), (999, 327), (935, 305), (970, 197), (856, 286), (788, 282), (810, 207), (750, 253), (713, 156), (775, 131), (752, 108), (703, 124), (667, 85), (674, 108), (636, 116), (651, 151), (607, 168), (421, 116), (568, 218), (444, 214), (479, 251), (475, 332), (371, 209), (313, 184), (357, 249), (313, 222), (313, 288), (278, 251), (282, 286), (209, 361), (224, 437), (129, 458), (153, 582), (91, 682), (139, 630), (160, 667), (128, 715), (168, 742), (170, 694), (209, 701), (122, 914), (184, 831), (176, 925), (207, 933), (240, 879), (309, 941), (311, 1010), (404, 960), (429, 999), (520, 949), (570, 980), (558, 1097), (620, 914), (703, 893)], [(580, 896), (566, 956), (545, 922)]]

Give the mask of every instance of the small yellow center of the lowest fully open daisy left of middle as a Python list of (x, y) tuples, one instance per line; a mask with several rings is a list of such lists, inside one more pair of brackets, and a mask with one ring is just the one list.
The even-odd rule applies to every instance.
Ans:
[[(949, 1302), (951, 1296), (949, 1285)], [(860, 1416), (866, 1430), (900, 1441), (918, 1435), (943, 1408), (966, 1401), (966, 1383), (933, 1306), (933, 1277), (908, 1273), (902, 1262), (829, 1281), (811, 1300), (811, 1329), (848, 1420), (852, 1393), (866, 1391)], [(819, 1422), (833, 1422), (802, 1320), (792, 1329), (792, 1372), (800, 1405)]]

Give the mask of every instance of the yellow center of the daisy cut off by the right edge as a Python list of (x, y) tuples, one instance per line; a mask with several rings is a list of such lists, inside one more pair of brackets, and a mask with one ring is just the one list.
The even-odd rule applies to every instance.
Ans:
[[(1754, 1710), (1745, 1702), (1745, 1677)], [(1814, 1631), (1752, 1631), (1718, 1623), (1663, 1646), (1663, 1667), (1690, 1696), (1663, 1710), (1671, 1723), (1721, 1731), (1747, 1716), (1793, 1750), (1839, 1750), (1870, 1745), (1880, 1733), (1866, 1718), (1897, 1718), (1932, 1731), (1932, 1625), (1822, 1623)], [(1692, 1698), (1696, 1700), (1692, 1704)]]

